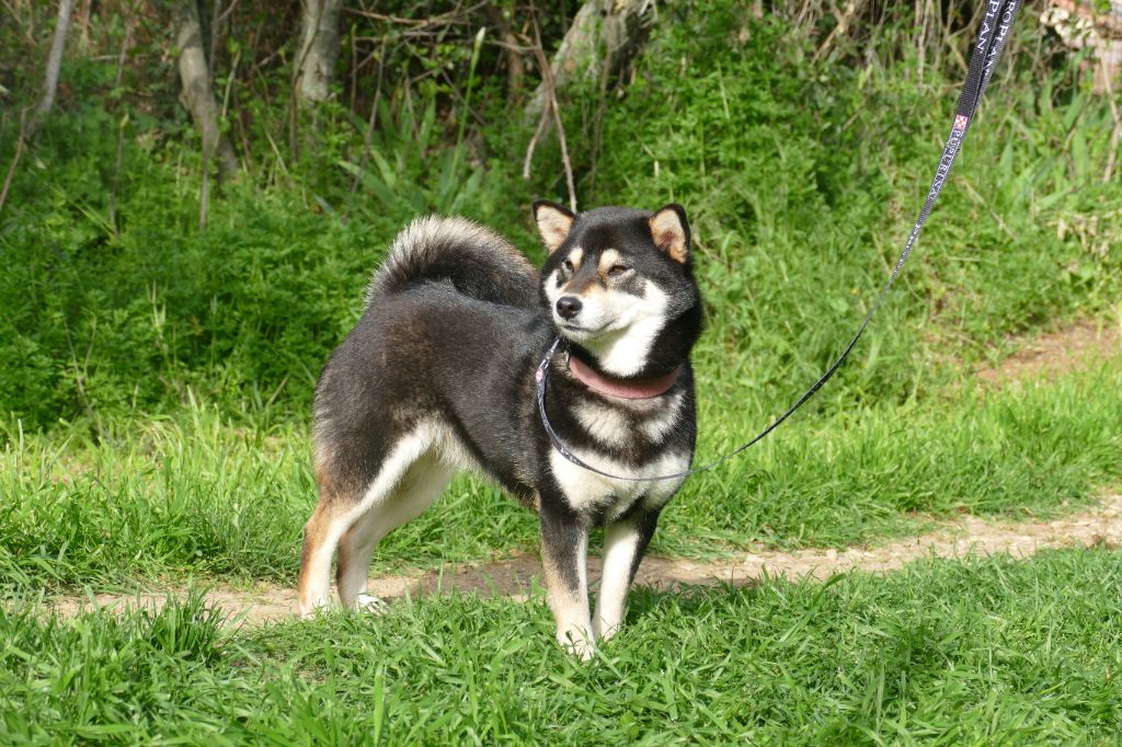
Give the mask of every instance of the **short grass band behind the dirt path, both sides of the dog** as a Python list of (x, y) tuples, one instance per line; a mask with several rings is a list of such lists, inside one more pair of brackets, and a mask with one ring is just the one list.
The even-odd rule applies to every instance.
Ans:
[[(707, 398), (701, 462), (742, 441), (765, 405)], [(844, 546), (968, 511), (1028, 518), (1122, 481), (1122, 360), (1055, 382), (909, 406), (799, 416), (757, 448), (691, 478), (653, 551), (703, 557), (764, 542)], [(306, 433), (232, 427), (196, 406), (177, 419), (80, 433), (11, 434), (0, 454), (0, 584), (104, 588), (187, 577), (292, 583), (315, 502)], [(536, 546), (536, 518), (475, 479), (379, 547), (375, 572), (487, 561)]]

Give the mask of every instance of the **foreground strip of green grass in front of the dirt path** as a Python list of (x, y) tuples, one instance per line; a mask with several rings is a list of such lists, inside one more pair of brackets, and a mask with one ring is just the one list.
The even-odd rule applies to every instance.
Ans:
[(231, 634), (215, 615), (197, 598), (121, 619), (0, 611), (0, 741), (1091, 745), (1122, 730), (1110, 551), (643, 591), (590, 664), (553, 643), (541, 596)]

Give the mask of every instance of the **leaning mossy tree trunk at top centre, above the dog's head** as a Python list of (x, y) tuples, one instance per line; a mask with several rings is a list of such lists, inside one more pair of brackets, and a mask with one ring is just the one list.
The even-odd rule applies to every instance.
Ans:
[[(550, 63), (557, 93), (574, 81), (599, 81), (623, 70), (643, 45), (650, 0), (587, 0)], [(545, 109), (544, 82), (526, 103), (527, 121)]]

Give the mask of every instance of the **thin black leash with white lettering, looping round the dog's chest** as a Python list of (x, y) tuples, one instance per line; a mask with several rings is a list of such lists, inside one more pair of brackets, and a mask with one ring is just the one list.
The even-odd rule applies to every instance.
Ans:
[(711, 470), (732, 457), (741, 453), (748, 446), (752, 446), (769, 433), (778, 428), (783, 421), (794, 414), (794, 411), (802, 407), (808, 399), (813, 397), (815, 393), (817, 393), (824, 384), (830, 380), (838, 368), (842, 367), (845, 359), (848, 358), (849, 353), (857, 344), (857, 340), (859, 340), (861, 335), (865, 333), (865, 328), (867, 328), (868, 323), (873, 321), (876, 310), (880, 308), (881, 302), (884, 299), (884, 296), (888, 295), (889, 288), (892, 287), (892, 283), (896, 279), (896, 276), (900, 274), (901, 268), (903, 268), (904, 262), (908, 261), (908, 256), (911, 253), (912, 247), (916, 245), (916, 240), (919, 238), (920, 231), (923, 230), (923, 223), (927, 222), (927, 218), (930, 215), (931, 209), (935, 208), (935, 201), (939, 199), (939, 193), (942, 192), (942, 185), (947, 182), (947, 175), (950, 173), (950, 167), (954, 165), (955, 158), (958, 157), (958, 150), (963, 146), (963, 140), (966, 139), (966, 132), (971, 129), (974, 114), (977, 113), (978, 104), (982, 102), (982, 95), (985, 93), (986, 86), (990, 85), (990, 79), (993, 75), (994, 68), (997, 66), (1001, 53), (1005, 49), (1005, 42), (1009, 39), (1009, 33), (1013, 28), (1013, 20), (1017, 18), (1017, 11), (1020, 9), (1021, 0), (987, 0), (985, 18), (982, 19), (982, 26), (978, 29), (978, 38), (974, 45), (974, 54), (971, 55), (971, 65), (966, 73), (966, 83), (963, 84), (963, 92), (959, 94), (958, 104), (955, 107), (955, 120), (950, 128), (950, 135), (947, 136), (947, 142), (942, 147), (942, 156), (939, 158), (939, 166), (936, 168), (935, 178), (931, 179), (931, 188), (928, 190), (927, 200), (923, 202), (923, 208), (919, 212), (919, 218), (916, 219), (916, 224), (912, 227), (911, 234), (904, 243), (904, 249), (900, 253), (900, 259), (896, 260), (896, 265), (892, 269), (892, 274), (889, 276), (889, 282), (884, 284), (884, 287), (881, 288), (881, 293), (873, 302), (873, 307), (870, 308), (868, 314), (865, 316), (865, 321), (861, 323), (857, 334), (853, 336), (853, 340), (850, 340), (849, 344), (846, 345), (842, 356), (834, 361), (834, 365), (830, 366), (829, 369), (822, 374), (821, 377), (819, 377), (819, 379), (815, 381), (815, 384), (807, 389), (801, 397), (799, 397), (798, 402), (791, 405), (785, 413), (775, 418), (775, 421), (764, 428), (755, 439), (747, 442), (743, 446), (728, 452), (717, 461), (706, 464), (705, 467), (689, 469), (683, 472), (674, 472), (673, 474), (660, 474), (657, 477), (636, 478), (611, 474), (596, 469), (573, 454), (569, 448), (565, 446), (564, 442), (561, 441), (560, 436), (558, 436), (553, 426), (550, 424), (549, 417), (545, 415), (545, 384), (549, 377), (549, 363), (550, 360), (552, 360), (553, 354), (557, 352), (558, 347), (561, 344), (561, 338), (559, 336), (553, 341), (553, 344), (550, 345), (550, 349), (545, 352), (545, 357), (542, 358), (542, 362), (537, 365), (537, 370), (534, 374), (537, 389), (537, 412), (541, 414), (542, 425), (545, 426), (545, 433), (549, 435), (550, 442), (553, 444), (553, 448), (557, 449), (558, 453), (578, 467), (582, 467), (590, 472), (596, 472), (597, 474), (603, 474), (604, 477), (616, 480), (627, 480), (629, 482), (675, 480), (697, 472)]

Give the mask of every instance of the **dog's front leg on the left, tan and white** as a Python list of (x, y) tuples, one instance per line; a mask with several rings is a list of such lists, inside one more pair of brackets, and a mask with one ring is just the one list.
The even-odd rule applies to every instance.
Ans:
[(595, 643), (588, 615), (588, 527), (568, 507), (545, 501), (541, 517), (542, 568), (558, 643), (587, 660)]

